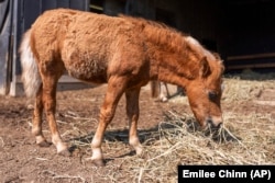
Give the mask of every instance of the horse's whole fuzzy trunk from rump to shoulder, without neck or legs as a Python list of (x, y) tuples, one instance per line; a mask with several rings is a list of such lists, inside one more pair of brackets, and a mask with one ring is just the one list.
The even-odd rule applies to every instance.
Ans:
[(113, 73), (141, 71), (145, 60), (142, 28), (123, 18), (51, 10), (33, 24), (32, 47), (46, 66), (63, 66), (77, 79), (102, 83)]

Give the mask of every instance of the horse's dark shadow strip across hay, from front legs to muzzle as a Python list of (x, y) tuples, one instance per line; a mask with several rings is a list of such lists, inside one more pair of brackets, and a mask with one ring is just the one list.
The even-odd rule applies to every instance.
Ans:
[[(196, 136), (202, 136), (205, 138), (209, 138), (215, 142), (226, 142), (226, 141), (238, 141), (241, 140), (240, 137), (234, 136), (227, 128), (211, 129), (207, 128), (201, 130), (198, 123), (193, 117), (180, 116), (179, 114), (175, 115), (173, 113), (164, 113), (165, 122), (158, 124), (157, 126), (150, 129), (140, 129), (139, 138), (143, 146), (150, 146), (153, 142), (161, 139), (161, 137), (165, 137), (166, 135), (177, 136), (177, 135), (188, 135), (193, 134)], [(183, 134), (184, 133), (184, 134)], [(95, 133), (87, 134), (86, 136), (72, 138), (69, 141), (80, 141), (81, 144), (90, 144), (92, 140)], [(105, 133), (106, 141), (121, 141), (124, 144), (129, 142), (129, 130), (128, 129), (119, 129), (119, 130), (107, 130)], [(73, 147), (72, 150), (74, 150)], [(131, 155), (132, 152), (130, 152)]]

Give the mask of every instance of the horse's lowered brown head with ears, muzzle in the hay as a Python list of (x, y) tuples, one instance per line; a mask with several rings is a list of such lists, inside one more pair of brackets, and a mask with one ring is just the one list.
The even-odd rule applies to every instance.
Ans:
[(202, 128), (219, 128), (222, 124), (222, 61), (219, 56), (206, 56), (200, 60), (198, 70), (199, 75), (186, 85), (190, 107)]

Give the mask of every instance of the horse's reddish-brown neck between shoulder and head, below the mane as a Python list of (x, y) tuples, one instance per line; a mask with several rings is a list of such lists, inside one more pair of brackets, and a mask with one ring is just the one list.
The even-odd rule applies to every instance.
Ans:
[(152, 68), (154, 68), (152, 69), (154, 71), (153, 78), (186, 87), (188, 81), (196, 78), (199, 72), (198, 61), (200, 56), (190, 50), (191, 47), (188, 45), (190, 43), (185, 43), (185, 37), (180, 35), (174, 36), (176, 39), (174, 43), (173, 37), (170, 37), (170, 41), (160, 39), (156, 42), (155, 37), (148, 39), (150, 45), (153, 47), (148, 53)]

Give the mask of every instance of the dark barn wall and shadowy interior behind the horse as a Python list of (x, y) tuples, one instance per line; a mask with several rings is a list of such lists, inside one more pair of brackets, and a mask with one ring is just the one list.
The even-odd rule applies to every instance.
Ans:
[[(21, 73), (18, 46), (34, 20), (55, 8), (89, 11), (92, 1), (102, 3), (106, 14), (125, 13), (157, 20), (190, 34), (221, 54), (227, 65), (252, 62), (254, 66), (266, 61), (275, 67), (275, 2), (272, 0), (0, 0), (0, 94), (9, 89), (10, 94), (16, 93)], [(243, 55), (253, 59), (235, 59)]]

